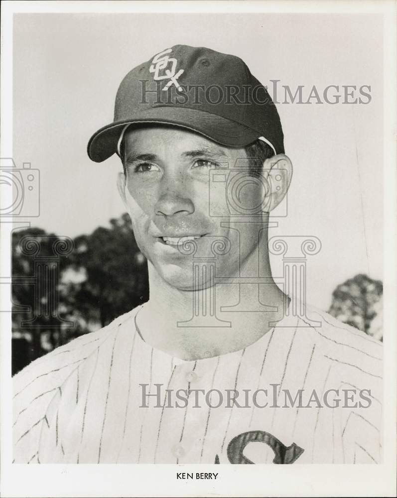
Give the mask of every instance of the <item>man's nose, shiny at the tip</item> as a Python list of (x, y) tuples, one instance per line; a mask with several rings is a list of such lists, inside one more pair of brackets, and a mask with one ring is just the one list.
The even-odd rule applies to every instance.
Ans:
[(194, 204), (188, 195), (183, 179), (175, 176), (163, 177), (154, 210), (156, 215), (162, 216), (194, 213)]

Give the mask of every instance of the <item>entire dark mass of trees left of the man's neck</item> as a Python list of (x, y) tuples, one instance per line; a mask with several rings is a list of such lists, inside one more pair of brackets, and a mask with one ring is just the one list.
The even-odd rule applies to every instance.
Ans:
[[(136, 245), (127, 214), (112, 219), (110, 228), (100, 227), (91, 235), (76, 237), (73, 251), (58, 256), (59, 274), (45, 276), (46, 281), (56, 281), (54, 292), (46, 285), (37, 285), (37, 254), (26, 253), (24, 247), (39, 246), (40, 256), (50, 258), (57, 240), (62, 238), (38, 228), (12, 234), (13, 373), (148, 299), (145, 258)], [(38, 309), (55, 301), (59, 320)], [(32, 325), (26, 325), (29, 321)]]

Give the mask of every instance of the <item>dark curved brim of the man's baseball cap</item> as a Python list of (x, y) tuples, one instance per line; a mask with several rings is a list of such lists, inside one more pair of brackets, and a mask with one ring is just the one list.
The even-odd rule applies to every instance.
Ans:
[(88, 142), (88, 155), (102, 162), (117, 152), (120, 133), (126, 124), (171, 124), (189, 129), (229, 147), (244, 147), (255, 141), (260, 133), (243, 124), (185, 107), (155, 107), (137, 113), (132, 119), (108, 124), (99, 129)]

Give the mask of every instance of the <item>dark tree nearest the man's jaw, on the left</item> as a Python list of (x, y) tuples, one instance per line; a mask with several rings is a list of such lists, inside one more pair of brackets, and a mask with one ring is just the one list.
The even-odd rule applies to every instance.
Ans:
[[(73, 307), (88, 320), (108, 325), (148, 299), (146, 259), (136, 245), (127, 213), (74, 240), (72, 267), (86, 278), (73, 284)], [(98, 328), (100, 328), (98, 327)]]

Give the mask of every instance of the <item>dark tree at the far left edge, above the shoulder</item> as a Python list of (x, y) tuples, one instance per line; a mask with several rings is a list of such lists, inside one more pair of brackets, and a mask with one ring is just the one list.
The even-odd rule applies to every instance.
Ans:
[(69, 264), (61, 254), (72, 247), (39, 228), (12, 233), (13, 370), (70, 340), (71, 324), (61, 311), (67, 303), (58, 303), (58, 279)]

